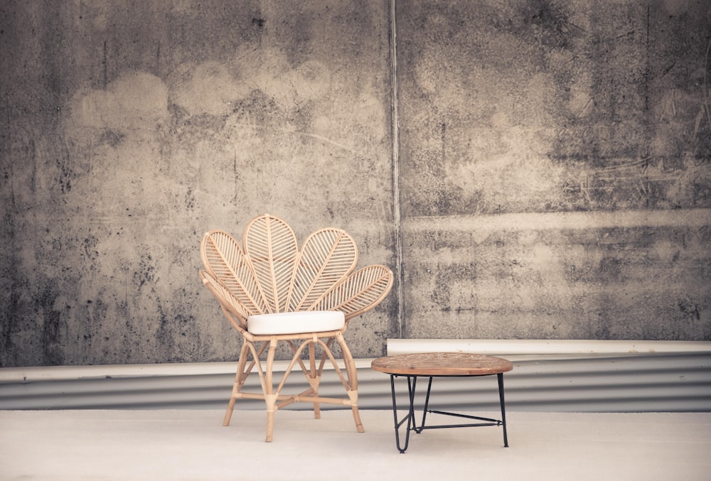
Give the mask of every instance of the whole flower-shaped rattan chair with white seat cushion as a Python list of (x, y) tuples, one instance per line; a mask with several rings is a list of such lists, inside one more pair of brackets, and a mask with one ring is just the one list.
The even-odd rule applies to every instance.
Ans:
[[(321, 417), (319, 404), (350, 406), (355, 428), (362, 433), (355, 363), (343, 333), (351, 318), (387, 296), (392, 271), (381, 265), (353, 271), (358, 248), (341, 229), (319, 229), (299, 249), (292, 228), (272, 215), (260, 215), (247, 223), (242, 246), (227, 232), (207, 232), (201, 242), (201, 258), (205, 266), (199, 273), (203, 283), (242, 335), (223, 425), (230, 424), (237, 399), (264, 399), (267, 442), (272, 441), (274, 433), (274, 412), (294, 402), (313, 403), (316, 418)], [(331, 352), (333, 340), (341, 348), (346, 376)], [(293, 357), (274, 387), (274, 358), (280, 342), (288, 346), (287, 352)], [(348, 397), (319, 396), (326, 360), (333, 365)], [(309, 389), (283, 394), (282, 388), (296, 364), (304, 372)], [(262, 392), (242, 391), (255, 370)]]

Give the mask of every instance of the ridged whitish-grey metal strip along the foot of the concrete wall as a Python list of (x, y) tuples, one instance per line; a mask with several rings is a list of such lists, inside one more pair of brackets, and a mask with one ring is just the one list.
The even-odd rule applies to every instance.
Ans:
[[(402, 343), (404, 342), (404, 344)], [(711, 343), (693, 348), (657, 343), (645, 352), (611, 352), (588, 343), (584, 352), (529, 346), (477, 345), (474, 341), (415, 344), (388, 342), (388, 353), (449, 350), (502, 355), (514, 364), (504, 376), (508, 411), (670, 412), (711, 411)], [(409, 344), (408, 344), (409, 343)], [(502, 344), (503, 343), (503, 344)], [(503, 346), (503, 347), (502, 347)], [(593, 348), (591, 348), (591, 346)], [(619, 347), (619, 346), (618, 346)], [(673, 348), (672, 348), (673, 347)], [(617, 349), (620, 351), (620, 349)], [(501, 351), (501, 352), (500, 352)], [(610, 351), (610, 352), (606, 352)], [(360, 409), (391, 409), (390, 377), (358, 364)], [(279, 363), (278, 369), (284, 369)], [(0, 409), (223, 409), (230, 395), (236, 362), (149, 364), (124, 366), (39, 367), (0, 369)], [(294, 372), (290, 392), (307, 384)], [(398, 402), (405, 405), (407, 387), (396, 379)], [(426, 387), (421, 380), (422, 389)], [(247, 389), (260, 391), (256, 375)], [(341, 396), (343, 387), (333, 370), (324, 372), (323, 396)], [(431, 399), (437, 409), (496, 411), (496, 377), (436, 378)], [(292, 404), (289, 409), (309, 409)], [(264, 409), (262, 401), (238, 401), (236, 409)], [(343, 409), (323, 405), (322, 409)]]

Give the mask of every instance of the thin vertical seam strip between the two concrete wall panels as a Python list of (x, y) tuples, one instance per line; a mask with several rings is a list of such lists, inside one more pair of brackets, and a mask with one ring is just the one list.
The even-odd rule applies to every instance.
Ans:
[(397, 277), (397, 337), (404, 337), (402, 293), (402, 226), (400, 224), (400, 131), (397, 112), (397, 28), (395, 1), (390, 0), (390, 124), (392, 126), (392, 219), (395, 224), (395, 276)]

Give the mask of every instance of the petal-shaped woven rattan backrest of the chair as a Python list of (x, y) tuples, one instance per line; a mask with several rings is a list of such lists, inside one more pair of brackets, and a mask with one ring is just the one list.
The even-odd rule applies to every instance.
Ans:
[(205, 270), (231, 293), (230, 302), (240, 303), (230, 307), (240, 316), (341, 310), (350, 319), (377, 305), (392, 287), (386, 266), (353, 272), (358, 248), (341, 229), (319, 229), (299, 249), (286, 222), (260, 215), (245, 226), (242, 244), (244, 249), (220, 230), (205, 234), (201, 243)]

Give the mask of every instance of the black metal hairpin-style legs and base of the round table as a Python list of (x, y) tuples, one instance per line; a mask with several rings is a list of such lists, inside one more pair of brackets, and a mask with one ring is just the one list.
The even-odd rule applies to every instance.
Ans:
[[(491, 374), (484, 374), (491, 375)], [(407, 377), (407, 394), (410, 399), (410, 409), (407, 415), (402, 418), (397, 418), (397, 400), (395, 399), (395, 377), (405, 376)], [(417, 426), (417, 421), (415, 420), (415, 389), (417, 387), (418, 377), (429, 377), (429, 382), (427, 383), (427, 396), (424, 399), (424, 409), (422, 410), (422, 424)], [(501, 402), (501, 419), (491, 419), (482, 418), (479, 416), (471, 416), (469, 414), (457, 414), (450, 413), (447, 411), (434, 411), (429, 408), (429, 394), (432, 391), (432, 378), (436, 376), (415, 376), (407, 374), (390, 374), (390, 389), (392, 390), (392, 416), (395, 419), (395, 443), (397, 444), (397, 450), (400, 453), (405, 453), (407, 450), (407, 445), (410, 443), (410, 431), (415, 431), (415, 433), (422, 433), (425, 429), (443, 429), (443, 428), (476, 428), (480, 426), (501, 426), (503, 428), (503, 445), (508, 448), (508, 436), (506, 436), (506, 408), (503, 400), (503, 373), (496, 374), (498, 378), (498, 398)], [(451, 377), (451, 376), (447, 376)], [(479, 377), (479, 376), (468, 376), (468, 377)], [(427, 420), (427, 413), (431, 414), (443, 414), (444, 416), (454, 416), (457, 418), (473, 419), (476, 421), (483, 421), (481, 423), (461, 423), (461, 424), (444, 424), (438, 426), (425, 426), (425, 421)], [(400, 445), (400, 428), (407, 421), (407, 428), (405, 429), (405, 445)]]

